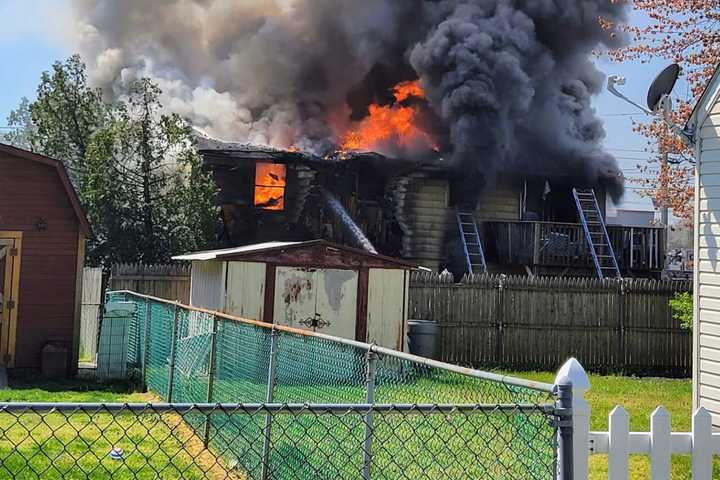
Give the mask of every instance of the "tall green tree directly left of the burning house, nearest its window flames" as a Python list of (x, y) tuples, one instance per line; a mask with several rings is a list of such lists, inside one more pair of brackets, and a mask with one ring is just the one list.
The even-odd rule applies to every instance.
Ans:
[(162, 113), (160, 93), (148, 79), (133, 82), (126, 103), (114, 107), (88, 145), (95, 262), (166, 262), (215, 236), (215, 185), (201, 168), (192, 129)]

